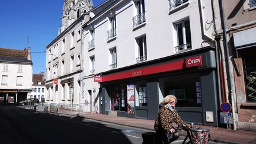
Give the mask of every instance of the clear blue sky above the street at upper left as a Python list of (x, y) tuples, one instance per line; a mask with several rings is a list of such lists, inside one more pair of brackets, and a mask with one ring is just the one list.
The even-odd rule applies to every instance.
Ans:
[[(94, 7), (104, 0), (93, 0)], [(1, 1), (0, 47), (31, 47), (33, 73), (45, 73), (46, 46), (57, 37), (64, 0)]]

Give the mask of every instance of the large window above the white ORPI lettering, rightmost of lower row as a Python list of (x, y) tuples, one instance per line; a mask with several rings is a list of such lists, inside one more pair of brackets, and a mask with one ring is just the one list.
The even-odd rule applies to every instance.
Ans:
[(175, 24), (177, 32), (177, 46), (175, 52), (191, 49), (190, 20), (184, 20)]

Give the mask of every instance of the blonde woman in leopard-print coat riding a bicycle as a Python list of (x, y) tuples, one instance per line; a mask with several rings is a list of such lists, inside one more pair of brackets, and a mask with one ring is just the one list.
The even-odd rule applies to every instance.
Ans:
[(181, 117), (175, 110), (175, 104), (177, 98), (174, 95), (167, 95), (162, 103), (159, 105), (159, 113), (155, 120), (156, 135), (162, 139), (164, 143), (171, 143), (178, 139), (180, 136), (175, 133), (175, 129), (172, 126), (175, 122), (178, 126), (184, 126), (189, 128), (190, 126), (185, 124)]

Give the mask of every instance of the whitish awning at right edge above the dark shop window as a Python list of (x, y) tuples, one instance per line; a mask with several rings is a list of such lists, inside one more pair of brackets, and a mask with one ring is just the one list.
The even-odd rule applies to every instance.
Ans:
[(233, 33), (233, 41), (236, 50), (256, 46), (256, 27)]

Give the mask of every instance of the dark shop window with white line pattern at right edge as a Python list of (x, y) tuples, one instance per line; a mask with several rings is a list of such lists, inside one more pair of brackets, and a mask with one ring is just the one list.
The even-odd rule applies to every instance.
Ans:
[(247, 102), (256, 103), (256, 51), (244, 53)]

